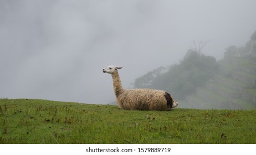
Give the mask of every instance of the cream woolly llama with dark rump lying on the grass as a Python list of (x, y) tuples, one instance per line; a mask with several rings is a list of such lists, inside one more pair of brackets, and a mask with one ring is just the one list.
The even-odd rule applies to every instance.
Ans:
[(168, 92), (154, 89), (124, 89), (117, 69), (119, 66), (108, 66), (103, 73), (112, 75), (117, 105), (127, 110), (171, 110), (178, 102)]

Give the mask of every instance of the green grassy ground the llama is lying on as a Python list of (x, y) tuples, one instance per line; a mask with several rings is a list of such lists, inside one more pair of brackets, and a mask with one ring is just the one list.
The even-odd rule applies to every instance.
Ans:
[(256, 143), (256, 110), (122, 110), (0, 99), (0, 143)]

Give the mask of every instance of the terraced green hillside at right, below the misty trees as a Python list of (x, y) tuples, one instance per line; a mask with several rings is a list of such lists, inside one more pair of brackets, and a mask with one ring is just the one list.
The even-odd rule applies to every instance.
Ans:
[(229, 56), (219, 61), (221, 71), (196, 92), (180, 101), (180, 107), (191, 108), (256, 108), (256, 54)]

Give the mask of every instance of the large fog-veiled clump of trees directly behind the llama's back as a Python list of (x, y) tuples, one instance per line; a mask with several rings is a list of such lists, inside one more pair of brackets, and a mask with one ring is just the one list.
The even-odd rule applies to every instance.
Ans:
[(166, 90), (182, 100), (216, 74), (219, 65), (214, 57), (190, 49), (180, 64), (172, 65), (165, 72), (161, 70), (158, 68), (137, 78), (135, 87)]

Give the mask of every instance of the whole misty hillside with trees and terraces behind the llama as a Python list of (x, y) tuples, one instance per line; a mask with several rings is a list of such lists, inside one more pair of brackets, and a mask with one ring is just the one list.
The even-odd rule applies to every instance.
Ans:
[(188, 50), (179, 64), (160, 67), (135, 80), (135, 88), (166, 90), (179, 107), (256, 109), (256, 45), (230, 46), (216, 61)]

